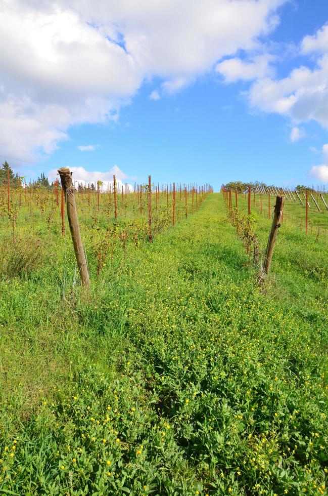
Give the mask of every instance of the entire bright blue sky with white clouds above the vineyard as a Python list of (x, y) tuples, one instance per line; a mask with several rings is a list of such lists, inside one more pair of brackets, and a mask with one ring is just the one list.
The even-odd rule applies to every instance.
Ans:
[(15, 39), (0, 75), (0, 153), (19, 174), (328, 184), (326, 1), (14, 4), (35, 60)]

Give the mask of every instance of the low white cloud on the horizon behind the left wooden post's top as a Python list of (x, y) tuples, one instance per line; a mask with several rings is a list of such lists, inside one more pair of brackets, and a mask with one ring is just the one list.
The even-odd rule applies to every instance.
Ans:
[[(121, 186), (124, 186), (123, 179), (128, 179), (129, 176), (125, 174), (119, 167), (114, 166), (108, 172), (100, 172), (100, 171), (86, 171), (83, 167), (70, 167), (70, 171), (72, 172), (72, 181), (76, 181), (77, 183), (82, 184), (97, 184), (97, 181), (103, 182), (103, 189), (106, 191), (109, 188), (109, 184), (113, 187), (113, 175), (115, 174), (115, 179), (117, 181), (117, 186), (119, 190), (121, 190)], [(58, 177), (57, 169), (52, 169), (48, 174), (49, 181), (54, 181)], [(130, 178), (133, 179), (133, 178)], [(133, 186), (131, 184), (128, 185), (130, 190), (133, 191)]]

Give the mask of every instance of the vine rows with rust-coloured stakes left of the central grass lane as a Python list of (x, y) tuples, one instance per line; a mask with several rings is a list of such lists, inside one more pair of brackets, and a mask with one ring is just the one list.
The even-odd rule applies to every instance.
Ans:
[[(106, 185), (98, 181), (83, 186), (74, 181), (72, 187), (86, 259), (91, 273), (95, 271), (97, 276), (114, 257), (123, 254), (124, 263), (128, 244), (138, 247), (143, 240), (152, 241), (160, 231), (197, 212), (212, 191), (209, 184), (154, 186), (150, 176), (146, 184), (135, 184), (134, 188), (119, 185), (115, 176)], [(26, 185), (25, 180), (16, 180), (13, 187), (8, 175), (0, 194), (4, 233), (0, 275), (28, 272), (29, 265), (40, 261), (38, 254), (46, 249), (65, 257), (62, 280), (72, 277), (75, 263), (68, 250), (66, 198), (60, 182), (42, 188), (31, 181)], [(75, 283), (76, 267), (73, 272)]]

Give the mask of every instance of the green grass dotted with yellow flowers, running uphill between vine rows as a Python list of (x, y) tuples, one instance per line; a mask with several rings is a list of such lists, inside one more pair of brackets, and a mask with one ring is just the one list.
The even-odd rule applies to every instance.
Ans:
[(210, 194), (99, 278), (90, 257), (88, 293), (68, 235), (37, 253), (0, 281), (0, 493), (326, 493), (323, 243), (283, 225), (260, 291)]

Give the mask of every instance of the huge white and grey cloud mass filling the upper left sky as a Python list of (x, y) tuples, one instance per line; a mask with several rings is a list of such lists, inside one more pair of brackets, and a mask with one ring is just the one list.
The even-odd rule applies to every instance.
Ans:
[(117, 119), (145, 79), (171, 93), (253, 50), (286, 0), (3, 0), (0, 148), (31, 160), (83, 122)]

